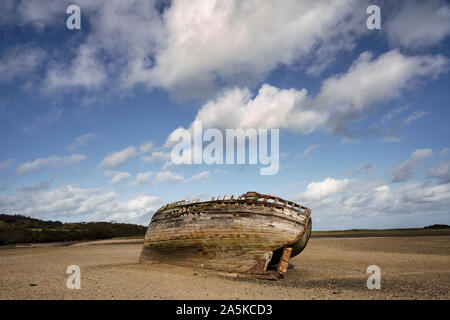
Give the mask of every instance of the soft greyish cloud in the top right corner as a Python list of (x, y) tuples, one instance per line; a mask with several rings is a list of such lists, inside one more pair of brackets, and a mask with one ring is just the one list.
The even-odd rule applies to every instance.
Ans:
[(394, 46), (421, 49), (450, 35), (450, 5), (442, 0), (408, 0), (386, 22)]

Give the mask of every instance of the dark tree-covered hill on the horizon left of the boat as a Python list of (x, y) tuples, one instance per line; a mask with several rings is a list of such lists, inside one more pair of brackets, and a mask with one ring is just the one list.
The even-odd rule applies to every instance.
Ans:
[(0, 245), (144, 236), (146, 227), (113, 222), (62, 223), (0, 214)]

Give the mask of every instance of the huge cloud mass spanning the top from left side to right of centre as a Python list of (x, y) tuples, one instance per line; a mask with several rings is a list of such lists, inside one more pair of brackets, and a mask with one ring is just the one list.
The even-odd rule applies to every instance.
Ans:
[[(60, 23), (70, 1), (25, 1), (20, 24)], [(358, 0), (80, 0), (89, 33), (68, 63), (48, 66), (47, 89), (144, 85), (186, 97), (251, 85), (279, 65), (318, 74), (367, 32)], [(86, 21), (86, 22), (84, 22)], [(114, 64), (110, 63), (114, 61)], [(114, 79), (109, 81), (109, 79)]]

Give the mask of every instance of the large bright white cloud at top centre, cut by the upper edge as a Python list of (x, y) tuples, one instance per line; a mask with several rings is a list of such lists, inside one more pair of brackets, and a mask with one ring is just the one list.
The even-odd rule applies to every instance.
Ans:
[(261, 80), (312, 53), (323, 65), (367, 31), (356, 12), (365, 12), (361, 1), (174, 1), (155, 67), (132, 78), (195, 95), (218, 81)]

